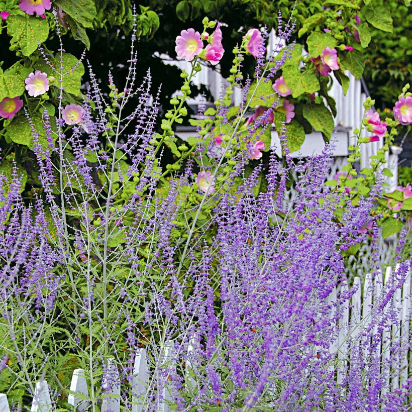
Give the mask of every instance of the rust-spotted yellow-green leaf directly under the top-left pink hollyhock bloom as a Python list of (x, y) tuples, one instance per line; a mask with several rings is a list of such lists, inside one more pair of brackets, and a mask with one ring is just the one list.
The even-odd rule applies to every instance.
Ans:
[(12, 46), (17, 44), (24, 56), (30, 56), (37, 50), (39, 43), (46, 41), (49, 36), (49, 24), (45, 19), (26, 14), (10, 16), (7, 23), (7, 33), (12, 36)]

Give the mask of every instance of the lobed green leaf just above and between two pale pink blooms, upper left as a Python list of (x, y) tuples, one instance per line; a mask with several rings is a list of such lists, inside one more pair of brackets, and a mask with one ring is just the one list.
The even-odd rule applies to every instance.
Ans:
[[(83, 63), (78, 63), (78, 59), (74, 57), (70, 53), (63, 53), (63, 83), (62, 86), (64, 88), (64, 91), (70, 94), (74, 94), (78, 96), (80, 94), (80, 79), (81, 76), (84, 74), (84, 66)], [(54, 60), (52, 60), (52, 64), (54, 66), (60, 67), (60, 57), (56, 56)], [(71, 71), (72, 67), (76, 67), (73, 72)], [(41, 70), (47, 73), (49, 76), (54, 76), (58, 77), (58, 74), (54, 72), (48, 64), (46, 64), (44, 61), (39, 61), (36, 64), (36, 69)], [(67, 73), (67, 74), (66, 74)]]

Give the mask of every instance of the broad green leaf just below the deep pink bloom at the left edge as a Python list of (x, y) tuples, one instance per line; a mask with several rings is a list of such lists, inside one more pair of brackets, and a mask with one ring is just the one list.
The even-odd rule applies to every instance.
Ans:
[[(47, 147), (47, 138), (46, 133), (43, 128), (43, 119), (40, 113), (36, 113), (32, 116), (32, 121), (36, 128), (37, 133), (39, 134), (39, 142), (43, 148)], [(50, 117), (50, 123), (54, 131), (57, 130), (56, 122), (53, 117)], [(14, 143), (20, 145), (28, 146), (29, 149), (34, 149), (34, 141), (32, 136), (32, 128), (25, 115), (17, 116), (13, 119), (10, 125), (7, 127), (5, 137), (10, 139)], [(56, 136), (53, 136), (53, 139), (56, 139)]]

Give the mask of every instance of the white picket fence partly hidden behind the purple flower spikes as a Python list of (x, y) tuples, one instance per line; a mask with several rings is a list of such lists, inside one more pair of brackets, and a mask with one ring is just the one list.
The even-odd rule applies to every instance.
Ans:
[[(350, 349), (348, 345), (348, 337), (353, 338), (357, 336), (357, 333), (364, 327), (367, 327), (371, 321), (371, 311), (373, 305), (377, 304), (376, 297), (381, 294), (384, 286), (388, 283), (392, 275), (392, 268), (387, 267), (385, 275), (382, 276), (381, 272), (378, 272), (374, 279), (371, 274), (367, 274), (362, 281), (359, 276), (354, 279), (354, 294), (351, 297), (351, 301), (346, 300), (343, 307), (340, 308), (342, 317), (339, 319), (339, 336), (337, 340), (330, 346), (329, 351), (331, 354), (335, 354), (338, 360), (337, 369), (337, 383), (340, 384), (347, 373), (347, 368), (344, 366), (347, 360), (350, 361)], [(347, 291), (346, 285), (335, 287), (328, 297), (328, 302), (337, 302), (339, 291)], [(396, 313), (397, 322), (393, 323), (382, 332), (382, 342), (378, 348), (378, 356), (381, 357), (381, 364), (391, 365), (391, 377), (390, 382), (387, 381), (387, 385), (382, 389), (383, 395), (388, 390), (393, 391), (399, 389), (406, 383), (408, 376), (412, 374), (412, 351), (410, 351), (410, 315), (411, 315), (411, 270), (409, 264), (409, 271), (406, 281), (402, 287), (397, 289), (391, 301), (385, 306), (384, 311), (393, 310)], [(374, 336), (377, 336), (377, 329), (374, 330)], [(362, 338), (360, 338), (362, 339)], [(406, 348), (401, 357), (395, 357), (391, 359), (390, 344), (398, 342), (401, 348)], [(407, 349), (409, 348), (409, 350)], [(190, 368), (190, 352), (193, 347), (189, 345), (186, 354), (186, 371)], [(164, 365), (173, 366), (172, 362), (173, 347), (170, 344), (166, 344), (163, 351)], [(341, 366), (339, 366), (341, 365)], [(101, 412), (119, 412), (121, 399), (120, 399), (120, 377), (116, 363), (113, 359), (108, 361), (108, 372), (110, 373), (111, 380), (114, 382), (110, 391), (105, 396), (101, 405)], [(131, 382), (132, 389), (132, 412), (142, 412), (145, 410), (145, 405), (139, 402), (141, 396), (146, 392), (146, 385), (149, 382), (150, 372), (147, 363), (145, 349), (138, 349), (136, 353), (134, 369), (133, 369), (133, 381)], [(389, 377), (388, 377), (389, 379)], [(194, 387), (195, 382), (191, 378), (187, 378), (186, 385)], [(105, 388), (107, 383), (102, 382), (102, 388)], [(74, 410), (82, 411), (88, 406), (88, 401), (85, 400), (89, 396), (87, 381), (83, 369), (75, 369), (71, 379), (70, 394), (68, 396), (68, 403), (73, 405)], [(158, 410), (160, 412), (168, 412), (170, 405), (168, 401), (173, 400), (171, 390), (169, 391), (167, 385), (163, 388), (161, 394), (162, 403)], [(36, 383), (35, 394), (31, 406), (31, 412), (48, 412), (52, 410), (52, 401), (50, 396), (50, 389), (47, 381), (43, 380)], [(147, 405), (146, 405), (147, 406)], [(9, 403), (6, 394), (0, 394), (0, 411), (10, 412)]]

